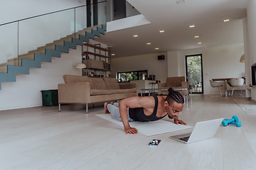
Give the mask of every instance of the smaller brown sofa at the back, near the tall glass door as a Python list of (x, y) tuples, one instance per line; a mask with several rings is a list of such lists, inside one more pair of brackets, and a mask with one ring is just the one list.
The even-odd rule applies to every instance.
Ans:
[[(167, 77), (166, 83), (159, 83), (157, 84), (159, 89), (166, 89), (166, 88), (189, 88), (189, 82), (185, 81), (185, 77)], [(158, 91), (159, 94), (168, 94), (168, 91)], [(181, 91), (183, 96), (186, 95), (186, 91)]]

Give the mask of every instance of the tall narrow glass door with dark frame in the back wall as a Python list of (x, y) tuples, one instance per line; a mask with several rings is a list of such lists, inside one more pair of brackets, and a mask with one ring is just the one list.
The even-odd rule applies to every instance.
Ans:
[(203, 62), (201, 55), (186, 55), (186, 81), (193, 94), (203, 94)]

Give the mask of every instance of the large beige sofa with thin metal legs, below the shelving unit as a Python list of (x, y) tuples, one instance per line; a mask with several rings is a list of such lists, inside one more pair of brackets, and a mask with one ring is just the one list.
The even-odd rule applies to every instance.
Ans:
[(58, 102), (85, 103), (88, 113), (88, 103), (114, 101), (122, 98), (138, 96), (137, 84), (118, 84), (114, 78), (92, 78), (85, 76), (63, 76), (65, 84), (58, 84)]

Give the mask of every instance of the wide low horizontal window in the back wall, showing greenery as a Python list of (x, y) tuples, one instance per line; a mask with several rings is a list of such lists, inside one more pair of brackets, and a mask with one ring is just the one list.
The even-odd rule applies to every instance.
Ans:
[(147, 79), (147, 70), (140, 70), (134, 72), (117, 72), (117, 79), (119, 82), (129, 82), (131, 80)]

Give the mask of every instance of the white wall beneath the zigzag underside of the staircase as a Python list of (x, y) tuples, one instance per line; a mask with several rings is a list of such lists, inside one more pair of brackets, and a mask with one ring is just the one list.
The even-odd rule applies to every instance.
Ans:
[(41, 68), (31, 68), (29, 74), (16, 74), (16, 82), (1, 82), (0, 110), (42, 106), (41, 90), (58, 89), (64, 74), (81, 75), (75, 65), (81, 62), (81, 48), (62, 53), (52, 62), (42, 62)]

